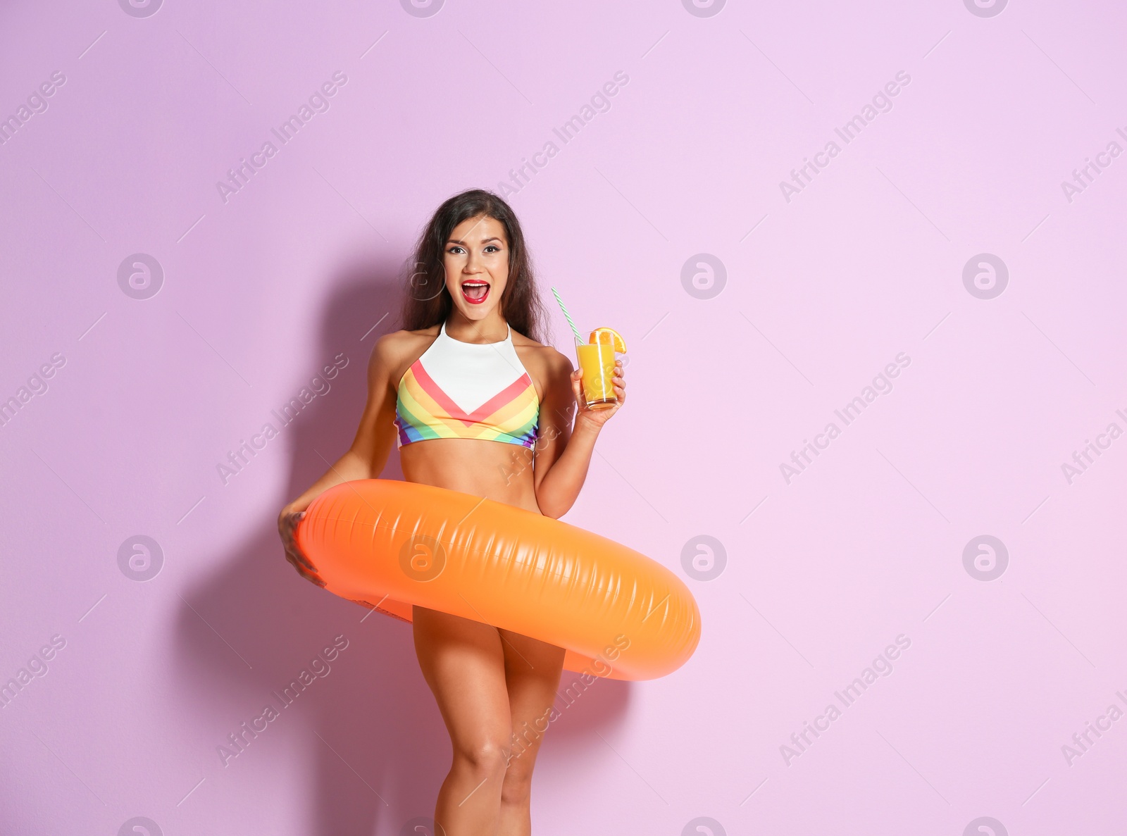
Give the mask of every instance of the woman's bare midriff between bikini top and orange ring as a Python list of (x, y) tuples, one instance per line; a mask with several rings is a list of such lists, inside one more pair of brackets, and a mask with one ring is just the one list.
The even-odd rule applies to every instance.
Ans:
[(532, 481), (532, 451), (480, 438), (428, 438), (399, 448), (408, 482), (492, 499), (540, 514)]

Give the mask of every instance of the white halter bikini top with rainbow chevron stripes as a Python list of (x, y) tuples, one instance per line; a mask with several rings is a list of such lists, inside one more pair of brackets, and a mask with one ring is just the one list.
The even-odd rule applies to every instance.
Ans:
[(481, 438), (532, 448), (540, 399), (516, 356), (513, 330), (500, 343), (438, 337), (399, 381), (398, 446), (428, 438)]

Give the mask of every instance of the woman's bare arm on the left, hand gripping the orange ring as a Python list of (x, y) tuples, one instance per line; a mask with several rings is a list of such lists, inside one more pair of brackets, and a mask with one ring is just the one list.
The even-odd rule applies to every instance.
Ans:
[(278, 514), (278, 534), (286, 560), (308, 580), (323, 586), (312, 563), (301, 553), (293, 532), (310, 504), (329, 488), (356, 479), (375, 479), (383, 472), (396, 437), (397, 393), (391, 385), (392, 370), (399, 359), (396, 335), (384, 335), (375, 341), (367, 363), (367, 402), (356, 429), (356, 437), (345, 454), (329, 465), (325, 474)]

